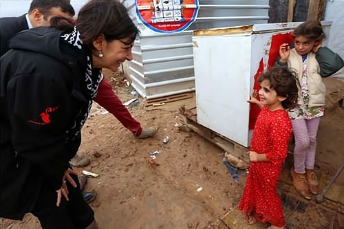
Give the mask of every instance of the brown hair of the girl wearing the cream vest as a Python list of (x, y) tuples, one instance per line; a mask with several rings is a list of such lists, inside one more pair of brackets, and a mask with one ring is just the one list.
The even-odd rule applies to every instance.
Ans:
[(292, 32), (292, 36), (305, 36), (313, 41), (320, 41), (325, 38), (320, 21), (306, 21), (299, 25)]

